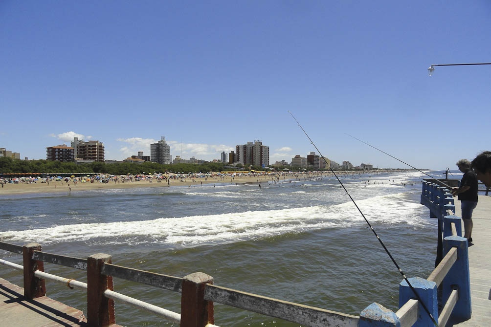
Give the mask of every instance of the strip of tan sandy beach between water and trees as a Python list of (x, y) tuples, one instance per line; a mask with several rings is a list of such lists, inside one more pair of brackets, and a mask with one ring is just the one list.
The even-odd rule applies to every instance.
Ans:
[[(183, 179), (171, 179), (167, 184), (166, 180), (157, 182), (157, 179), (134, 181), (134, 182), (109, 182), (99, 183), (94, 181), (93, 183), (74, 183), (73, 181), (51, 181), (48, 183), (18, 183), (18, 184), (4, 184), (0, 188), (1, 194), (27, 194), (27, 193), (52, 193), (52, 192), (77, 192), (88, 190), (105, 190), (105, 189), (133, 189), (133, 188), (158, 188), (158, 187), (172, 187), (172, 186), (188, 186), (189, 188), (200, 187), (205, 184), (267, 184), (267, 183), (281, 183), (289, 182), (290, 180), (304, 180), (306, 178), (319, 178), (321, 176), (330, 176), (330, 173), (316, 173), (316, 174), (272, 174), (262, 176), (209, 176), (209, 177), (187, 177)], [(279, 180), (278, 180), (279, 178)]]

